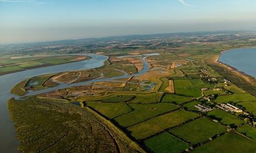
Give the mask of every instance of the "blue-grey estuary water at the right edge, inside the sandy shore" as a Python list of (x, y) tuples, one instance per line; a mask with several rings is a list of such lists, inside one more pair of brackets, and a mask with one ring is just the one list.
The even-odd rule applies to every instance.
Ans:
[(256, 78), (256, 48), (240, 48), (223, 52), (219, 62)]

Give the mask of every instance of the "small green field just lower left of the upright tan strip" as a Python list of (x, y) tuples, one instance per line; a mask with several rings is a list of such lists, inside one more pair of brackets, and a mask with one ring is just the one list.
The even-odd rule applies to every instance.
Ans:
[(136, 104), (150, 104), (150, 103), (159, 103), (163, 94), (159, 93), (150, 93), (145, 95), (136, 95), (134, 99), (129, 101), (129, 103)]

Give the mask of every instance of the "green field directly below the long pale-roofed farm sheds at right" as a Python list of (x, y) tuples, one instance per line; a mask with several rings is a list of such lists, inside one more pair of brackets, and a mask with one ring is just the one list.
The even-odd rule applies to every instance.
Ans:
[(240, 124), (243, 124), (244, 121), (238, 119), (237, 117), (223, 111), (223, 110), (213, 110), (213, 111), (209, 111), (207, 114), (207, 116), (209, 116), (211, 119), (215, 119), (218, 120), (219, 123), (223, 124), (223, 125), (229, 125), (229, 126), (237, 126)]

